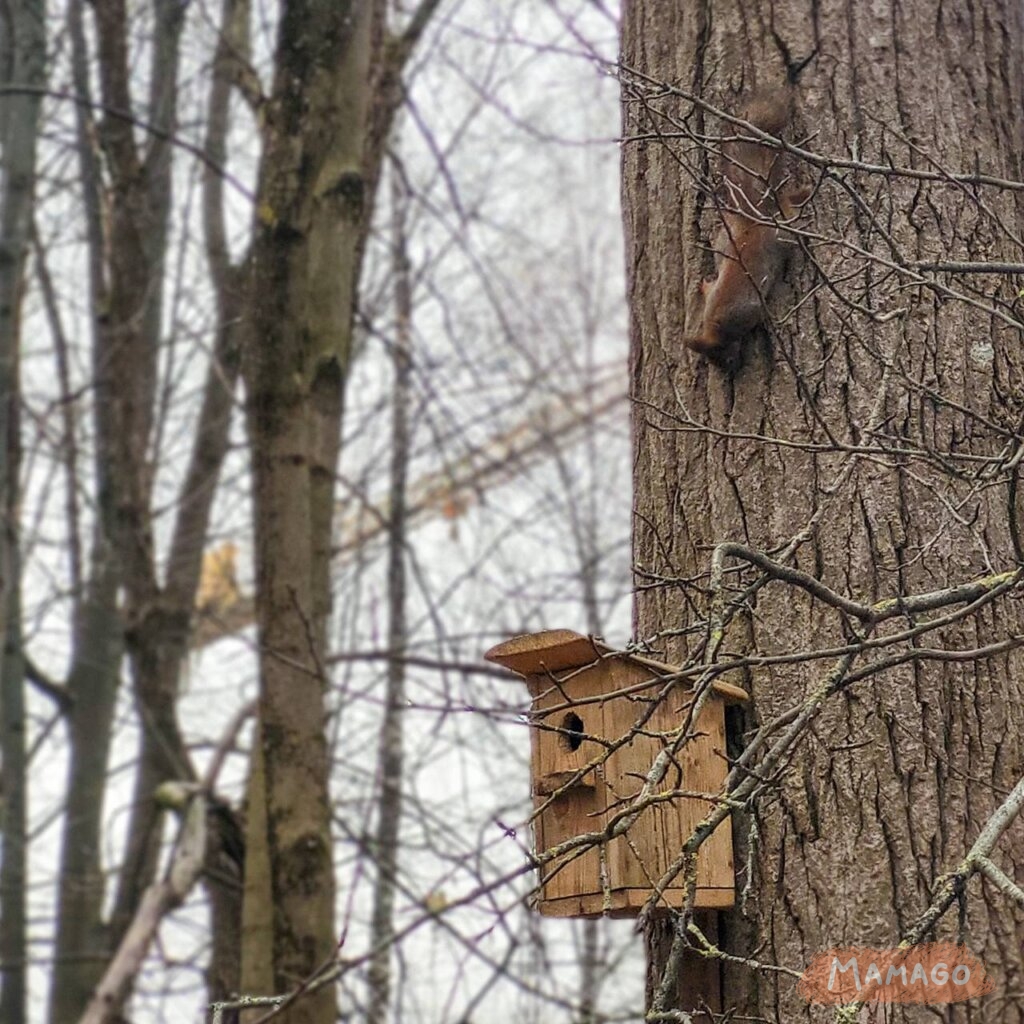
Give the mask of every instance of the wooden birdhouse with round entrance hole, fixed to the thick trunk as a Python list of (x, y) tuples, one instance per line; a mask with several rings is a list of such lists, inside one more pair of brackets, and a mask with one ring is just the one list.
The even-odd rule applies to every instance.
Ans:
[[(614, 650), (571, 630), (513, 637), (484, 655), (522, 676), (531, 698), (530, 774), (539, 856), (574, 837), (623, 823), (624, 812), (671, 750), (692, 705), (672, 666)], [(715, 683), (690, 737), (659, 764), (665, 771), (629, 828), (542, 861), (538, 908), (555, 918), (639, 912), (658, 879), (703, 820), (725, 780), (725, 703), (746, 693)], [(655, 773), (656, 775), (656, 773)], [(653, 799), (652, 799), (653, 798)], [(734, 897), (732, 830), (724, 820), (696, 861), (696, 906), (727, 907)], [(662, 906), (681, 906), (678, 876)]]

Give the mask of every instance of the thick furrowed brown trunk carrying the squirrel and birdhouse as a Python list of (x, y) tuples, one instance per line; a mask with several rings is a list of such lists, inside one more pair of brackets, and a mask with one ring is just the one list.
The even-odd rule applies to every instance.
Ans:
[[(736, 129), (689, 97), (735, 113), (740, 95), (782, 83), (785, 51), (815, 48), (797, 134), (830, 166), (807, 169), (818, 187), (797, 225), (803, 253), (769, 302), (772, 328), (724, 372), (687, 353), (682, 337), (711, 269), (701, 245), (717, 222), (709, 143)], [(984, 9), (625, 4), (636, 631), (670, 662), (856, 646), (858, 636), (891, 638), (929, 617), (854, 630), (820, 594), (779, 581), (752, 588), (750, 563), (727, 559), (728, 627), (716, 653), (706, 640), (708, 573), (725, 541), (774, 552), (865, 602), (1019, 564), (1024, 190), (972, 175), (1024, 177), (1022, 59), (1024, 15), (999, 0)], [(949, 261), (985, 266), (934, 266)], [(979, 272), (1000, 262), (1016, 275)], [(1020, 602), (1004, 595), (948, 613), (953, 621), (920, 641), (892, 640), (902, 662), (845, 685), (887, 653), (859, 651), (785, 770), (734, 816), (745, 898), (712, 922), (727, 952), (799, 972), (840, 943), (896, 944), (1019, 778)], [(997, 652), (952, 662), (930, 653), (996, 641), (1006, 641)], [(834, 668), (748, 667), (753, 702), (736, 751)], [(998, 859), (1019, 877), (1021, 823), (1014, 829)], [(1019, 911), (980, 880), (964, 908), (961, 934), (995, 975), (996, 993), (942, 1019), (1021, 1021)], [(955, 935), (955, 916), (937, 934)], [(708, 977), (688, 963), (663, 1009), (692, 1009), (703, 993), (715, 1001), (720, 979), (722, 1009), (831, 1019), (777, 973), (730, 965)], [(889, 1019), (935, 1013), (904, 1008)]]

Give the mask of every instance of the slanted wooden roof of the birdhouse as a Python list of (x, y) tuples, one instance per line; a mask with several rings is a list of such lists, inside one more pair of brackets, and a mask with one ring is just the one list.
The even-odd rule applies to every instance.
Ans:
[[(569, 672), (604, 658), (616, 658), (649, 669), (652, 676), (681, 672), (679, 666), (667, 665), (628, 650), (609, 647), (600, 637), (584, 636), (572, 630), (544, 630), (524, 633), (492, 647), (483, 655), (488, 662), (504, 666), (520, 676), (548, 672)], [(750, 699), (745, 690), (716, 680), (712, 688), (729, 702)]]

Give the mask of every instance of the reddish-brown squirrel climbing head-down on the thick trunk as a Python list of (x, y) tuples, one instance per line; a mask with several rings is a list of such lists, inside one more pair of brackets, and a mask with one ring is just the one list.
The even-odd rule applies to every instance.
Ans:
[[(781, 137), (793, 119), (793, 88), (755, 95), (742, 119)], [(738, 125), (726, 132), (750, 135)], [(796, 182), (794, 161), (782, 151), (736, 138), (722, 144), (721, 227), (715, 234), (714, 278), (702, 282), (700, 329), (686, 338), (694, 351), (715, 359), (734, 356), (742, 339), (765, 322), (771, 295), (796, 243), (777, 225), (792, 219), (811, 189)]]

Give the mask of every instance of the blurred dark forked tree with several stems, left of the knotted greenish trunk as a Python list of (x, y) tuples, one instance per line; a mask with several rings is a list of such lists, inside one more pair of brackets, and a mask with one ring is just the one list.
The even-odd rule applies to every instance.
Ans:
[[(72, 0), (69, 12), (75, 86), (87, 101), (90, 56), (82, 4)], [(121, 0), (101, 0), (94, 5), (94, 12), (103, 117), (94, 124), (87, 102), (78, 104), (77, 113), (94, 313), (99, 515), (89, 582), (76, 615), (69, 679), (74, 705), (57, 965), (50, 1011), (54, 1022), (75, 1019), (81, 1013), (105, 957), (120, 941), (155, 878), (161, 838), (155, 791), (165, 780), (194, 776), (177, 724), (178, 681), (187, 653), (215, 484), (227, 450), (231, 392), (238, 375), (240, 271), (227, 264), (226, 248), (217, 244), (223, 239), (216, 213), (222, 197), (219, 178), (213, 181), (208, 175), (204, 183), (205, 226), (222, 326), (161, 586), (153, 542), (150, 444), (157, 410), (157, 358), (172, 195), (171, 140), (176, 129), (178, 52), (185, 8), (176, 0), (160, 0), (155, 5), (145, 110), (146, 122), (156, 130), (140, 146), (125, 117), (133, 111), (126, 8)], [(225, 102), (221, 87), (211, 100), (211, 119), (221, 113)], [(223, 121), (211, 128), (213, 159), (223, 147), (225, 130)], [(94, 150), (97, 137), (105, 157), (102, 163)], [(104, 168), (111, 176), (109, 188)], [(110, 200), (105, 210), (104, 193)], [(126, 594), (124, 617), (116, 604), (121, 586)], [(127, 849), (108, 924), (102, 919), (98, 835), (118, 667), (125, 649), (130, 655), (142, 742)], [(221, 902), (225, 913), (229, 903)], [(233, 932), (238, 932), (237, 922)], [(222, 977), (223, 972), (218, 970), (216, 976)], [(233, 977), (232, 986), (237, 986), (237, 967)]]

